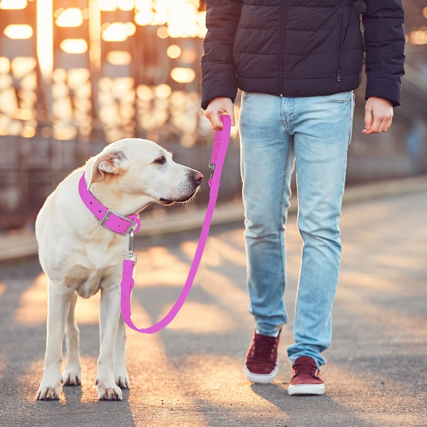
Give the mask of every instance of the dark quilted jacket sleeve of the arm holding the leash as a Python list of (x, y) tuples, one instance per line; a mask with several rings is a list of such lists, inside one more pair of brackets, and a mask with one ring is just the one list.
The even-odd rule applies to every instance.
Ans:
[(233, 62), (233, 41), (242, 0), (207, 0), (206, 27), (201, 57), (201, 107), (217, 97), (231, 98), (237, 93)]

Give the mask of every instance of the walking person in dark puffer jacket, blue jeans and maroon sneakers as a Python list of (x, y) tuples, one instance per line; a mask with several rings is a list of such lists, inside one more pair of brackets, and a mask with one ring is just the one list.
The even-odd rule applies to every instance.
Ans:
[[(323, 394), (321, 355), (341, 254), (339, 219), (354, 96), (366, 71), (365, 129), (385, 132), (399, 105), (404, 63), (401, 0), (207, 0), (201, 107), (213, 129), (231, 116), (237, 88), (249, 312), (249, 381), (271, 382), (287, 322), (285, 223), (296, 168), (303, 240), (287, 347), (289, 394)], [(363, 33), (361, 25), (363, 24)], [(365, 55), (364, 55), (365, 52)]]

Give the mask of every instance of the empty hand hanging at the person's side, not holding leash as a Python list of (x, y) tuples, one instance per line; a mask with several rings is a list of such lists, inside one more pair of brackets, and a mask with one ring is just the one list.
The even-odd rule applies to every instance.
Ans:
[(387, 131), (393, 119), (393, 106), (387, 99), (370, 96), (364, 107), (365, 135)]

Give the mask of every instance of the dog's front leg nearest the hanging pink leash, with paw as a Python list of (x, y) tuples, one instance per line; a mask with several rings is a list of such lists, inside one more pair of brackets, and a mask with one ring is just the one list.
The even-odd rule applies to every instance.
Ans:
[(99, 400), (121, 400), (121, 389), (114, 381), (114, 346), (120, 316), (120, 288), (101, 289), (99, 310), (100, 350), (96, 391)]

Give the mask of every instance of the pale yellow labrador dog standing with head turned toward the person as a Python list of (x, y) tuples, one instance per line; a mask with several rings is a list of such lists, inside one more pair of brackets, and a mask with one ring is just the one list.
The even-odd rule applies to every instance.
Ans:
[[(83, 204), (78, 192), (83, 172), (93, 196), (122, 216), (138, 213), (150, 203), (187, 201), (203, 177), (175, 163), (155, 142), (126, 138), (107, 145), (47, 197), (35, 223), (40, 264), (48, 277), (46, 353), (37, 399), (58, 399), (62, 382), (80, 383), (74, 306), (77, 295), (88, 298), (99, 289), (98, 399), (120, 400), (120, 387), (129, 386), (124, 361), (125, 325), (120, 316), (121, 261), (127, 238), (101, 226)], [(64, 333), (67, 354), (61, 376)]]

